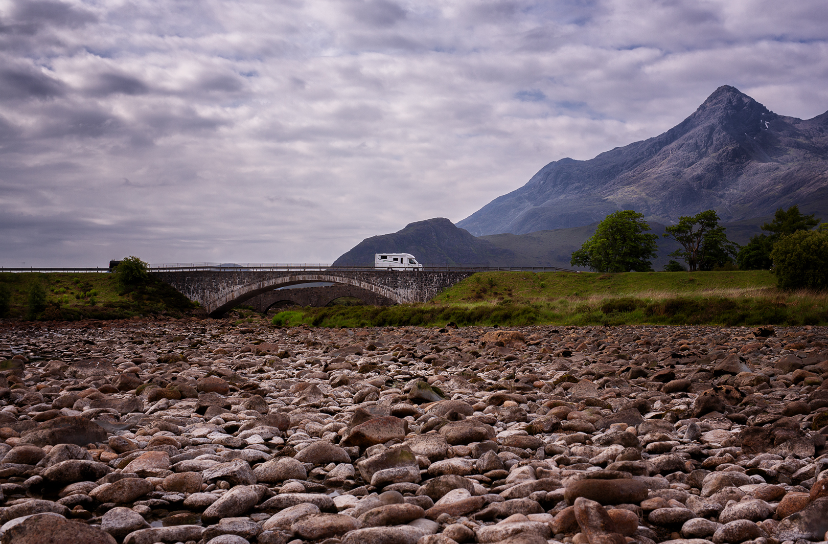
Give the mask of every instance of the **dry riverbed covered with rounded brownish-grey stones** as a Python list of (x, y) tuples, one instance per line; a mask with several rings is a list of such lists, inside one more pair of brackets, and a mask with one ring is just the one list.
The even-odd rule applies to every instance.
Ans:
[(12, 358), (0, 532), (14, 542), (828, 531), (822, 327), (3, 321)]

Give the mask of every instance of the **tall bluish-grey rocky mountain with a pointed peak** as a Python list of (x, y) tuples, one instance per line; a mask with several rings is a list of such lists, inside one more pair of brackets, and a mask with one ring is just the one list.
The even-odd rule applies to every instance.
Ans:
[(785, 117), (724, 85), (667, 132), (589, 161), (551, 162), (457, 226), (475, 236), (537, 233), (617, 209), (661, 224), (705, 209), (759, 224), (750, 219), (795, 204), (828, 218), (828, 112)]

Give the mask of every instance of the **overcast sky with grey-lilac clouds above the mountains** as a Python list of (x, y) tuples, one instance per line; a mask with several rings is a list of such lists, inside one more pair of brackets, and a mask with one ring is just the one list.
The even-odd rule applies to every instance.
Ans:
[(0, 0), (0, 265), (331, 262), (721, 84), (828, 110), (828, 2)]

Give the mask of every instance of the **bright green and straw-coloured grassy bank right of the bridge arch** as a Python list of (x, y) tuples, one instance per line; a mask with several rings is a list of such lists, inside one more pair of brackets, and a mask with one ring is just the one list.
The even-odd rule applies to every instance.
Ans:
[(283, 311), (274, 325), (828, 325), (828, 293), (770, 272), (483, 272), (427, 304)]

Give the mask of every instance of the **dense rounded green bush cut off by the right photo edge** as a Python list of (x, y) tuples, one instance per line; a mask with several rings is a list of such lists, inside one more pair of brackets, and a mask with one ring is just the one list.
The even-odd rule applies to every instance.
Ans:
[(828, 288), (828, 229), (782, 236), (771, 252), (780, 289)]

